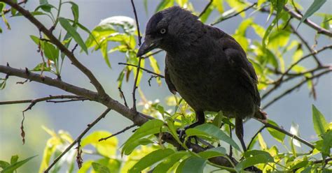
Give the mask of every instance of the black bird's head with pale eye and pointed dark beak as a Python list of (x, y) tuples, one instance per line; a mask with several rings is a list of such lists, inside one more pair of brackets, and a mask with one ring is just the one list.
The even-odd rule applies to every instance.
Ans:
[(168, 51), (174, 46), (181, 45), (181, 40), (191, 37), (194, 30), (193, 23), (197, 21), (197, 16), (179, 6), (155, 13), (146, 24), (144, 43), (139, 47), (137, 57), (155, 48)]

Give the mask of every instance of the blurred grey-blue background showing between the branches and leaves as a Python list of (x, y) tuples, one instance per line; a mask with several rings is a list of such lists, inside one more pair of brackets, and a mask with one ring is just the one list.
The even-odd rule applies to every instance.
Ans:
[[(206, 6), (208, 1), (193, 0), (194, 8), (197, 11), (202, 11)], [(58, 1), (51, 1), (49, 3), (57, 5)], [(134, 18), (132, 13), (132, 6), (130, 0), (77, 0), (75, 3), (79, 6), (79, 22), (88, 29), (93, 29), (101, 20), (107, 17), (124, 15), (127, 17)], [(139, 24), (141, 32), (144, 32), (146, 22), (149, 17), (153, 15), (155, 7), (158, 5), (159, 1), (148, 0), (148, 13), (144, 10), (144, 1), (135, 1), (137, 14), (139, 17)], [(304, 9), (307, 9), (312, 1), (303, 0), (298, 1)], [(29, 10), (34, 10), (36, 6), (39, 5), (37, 0), (29, 0), (25, 5), (25, 8)], [(322, 6), (319, 10), (321, 13), (331, 13), (332, 1), (327, 1), (326, 5)], [(225, 6), (225, 10), (229, 7)], [(261, 24), (263, 27), (268, 27), (270, 22), (266, 22), (267, 15), (261, 13), (251, 13), (253, 10), (247, 12), (246, 17), (254, 17), (254, 20)], [(71, 17), (70, 7), (63, 8), (61, 16)], [(219, 16), (218, 12), (212, 13), (210, 20), (207, 23), (213, 22), (214, 18)], [(50, 27), (51, 23), (46, 17), (37, 17), (46, 26)], [(312, 15), (310, 20), (321, 22), (321, 18)], [(229, 34), (233, 34), (235, 29), (237, 29), (238, 24), (242, 21), (240, 16), (233, 17), (230, 20), (221, 22), (215, 27), (219, 27), (223, 31)], [(294, 20), (295, 21), (295, 20)], [(38, 47), (33, 43), (30, 35), (39, 36), (39, 32), (31, 23), (28, 22), (24, 17), (8, 17), (8, 22), (11, 24), (11, 30), (6, 29), (4, 22), (1, 21), (1, 27), (4, 29), (3, 33), (0, 34), (0, 64), (5, 65), (9, 63), (13, 68), (29, 68), (32, 69), (37, 63), (41, 62), (40, 54), (37, 52)], [(295, 22), (295, 26), (296, 26)], [(59, 33), (59, 31), (55, 31)], [(314, 44), (314, 30), (307, 27), (305, 24), (301, 24), (298, 28), (298, 32), (305, 36), (305, 39), (309, 41), (310, 45)], [(247, 36), (251, 39), (257, 39), (256, 34), (252, 29), (249, 29)], [(81, 37), (85, 40), (88, 35), (81, 32)], [(318, 39), (318, 46), (331, 44), (331, 40), (327, 38), (320, 37)], [(122, 102), (119, 97), (116, 79), (120, 70), (123, 66), (118, 65), (118, 62), (125, 62), (124, 54), (114, 52), (109, 54), (109, 59), (111, 61), (112, 68), (109, 68), (100, 52), (90, 52), (88, 55), (84, 53), (79, 53), (76, 51), (76, 57), (85, 66), (90, 68), (95, 74), (97, 79), (102, 82), (106, 92), (112, 98)], [(304, 50), (304, 54), (307, 54), (307, 50)], [(318, 54), (317, 57), (321, 59), (324, 63), (332, 63), (332, 52), (327, 50)], [(158, 60), (160, 70), (164, 69), (164, 57), (165, 53), (162, 52), (155, 56)], [(284, 57), (287, 61), (287, 57)], [(304, 66), (313, 66), (313, 61), (305, 61)], [(147, 66), (147, 68), (150, 68)], [(50, 73), (45, 73), (51, 77), (56, 77)], [(162, 73), (163, 74), (163, 73)], [(4, 77), (3, 74), (0, 74)], [(146, 99), (154, 101), (159, 99), (161, 105), (165, 105), (165, 100), (167, 96), (171, 96), (170, 91), (167, 89), (165, 82), (162, 80), (162, 85), (158, 84), (153, 80), (151, 82), (151, 87), (148, 85), (148, 78), (150, 75), (144, 75), (141, 80), (140, 89), (146, 96)], [(92, 85), (88, 82), (87, 77), (82, 75), (81, 71), (77, 70), (72, 66), (69, 61), (64, 62), (62, 68), (62, 80), (75, 84), (87, 89), (92, 89)], [(27, 82), (25, 84), (16, 84), (16, 82), (22, 82), (24, 80), (18, 77), (9, 77), (7, 86), (4, 90), (0, 91), (0, 101), (4, 100), (24, 100), (41, 98), (48, 95), (62, 95), (67, 94), (64, 91), (55, 89), (53, 87), (48, 87), (43, 84), (36, 82)], [(133, 77), (131, 75), (130, 82), (123, 83), (123, 92), (127, 98), (128, 104), (132, 105), (131, 92), (132, 92)], [(272, 94), (268, 99), (263, 100), (262, 105), (268, 102), (269, 99), (276, 96), (278, 93), (284, 91), (294, 83), (286, 83), (282, 85), (275, 93)], [(303, 85), (300, 89), (295, 92), (285, 96), (277, 103), (268, 107), (265, 112), (268, 113), (268, 118), (277, 122), (284, 129), (289, 130), (291, 123), (297, 123), (299, 125), (300, 136), (305, 140), (317, 140), (317, 136), (314, 133), (314, 128), (312, 125), (312, 104), (321, 111), (322, 114), (326, 116), (326, 120), (331, 122), (332, 120), (332, 75), (324, 75), (319, 78), (319, 83), (317, 84), (317, 100), (314, 100), (309, 96), (309, 91), (306, 85)], [(262, 91), (264, 92), (264, 91)], [(138, 93), (137, 93), (137, 96)], [(138, 99), (139, 101), (140, 99)], [(29, 104), (18, 104), (18, 105), (0, 105), (0, 160), (10, 160), (12, 155), (18, 154), (21, 159), (27, 158), (29, 156), (39, 155), (34, 158), (30, 163), (27, 164), (25, 172), (36, 172), (39, 169), (39, 164), (43, 156), (43, 149), (46, 144), (47, 139), (50, 137), (42, 126), (53, 129), (55, 131), (65, 130), (69, 132), (73, 138), (76, 138), (85, 128), (88, 123), (93, 121), (99, 114), (101, 114), (106, 107), (90, 102), (71, 102), (71, 103), (37, 103), (32, 110), (25, 112), (25, 132), (26, 132), (26, 143), (22, 145), (22, 139), (20, 137), (20, 123), (22, 121), (22, 110)], [(139, 110), (141, 110), (139, 107)], [(106, 118), (100, 121), (97, 126), (92, 128), (93, 130), (108, 130), (111, 133), (116, 133), (122, 130), (126, 126), (130, 126), (131, 122), (123, 118), (120, 114), (116, 112), (110, 112)], [(244, 125), (244, 138), (245, 142), (249, 142), (251, 136), (256, 133), (256, 130), (261, 127), (261, 124), (255, 120), (249, 120)], [(119, 146), (125, 142), (125, 140), (130, 136), (131, 132), (128, 130), (126, 133), (118, 135)], [(268, 145), (276, 144), (277, 142), (268, 135), (266, 130), (263, 132)]]

